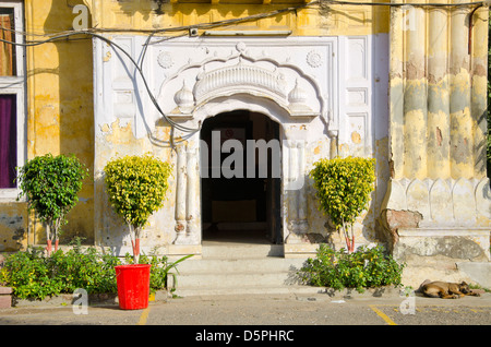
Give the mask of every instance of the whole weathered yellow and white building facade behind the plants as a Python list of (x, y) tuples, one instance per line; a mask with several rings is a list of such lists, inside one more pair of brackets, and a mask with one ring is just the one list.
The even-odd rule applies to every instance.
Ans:
[[(488, 5), (0, 2), (2, 13), (20, 11), (15, 43), (27, 44), (14, 46), (25, 68), (14, 91), (25, 103), (16, 113), (17, 166), (73, 153), (92, 172), (62, 243), (80, 236), (130, 251), (105, 195), (104, 166), (149, 152), (175, 172), (165, 207), (145, 228), (144, 250), (201, 255), (211, 230), (263, 230), (284, 256), (309, 256), (320, 242), (344, 247), (318, 210), (313, 163), (374, 157), (375, 191), (356, 224), (357, 246), (387, 244), (418, 271), (489, 262)], [(14, 93), (13, 77), (2, 79), (2, 94)], [(206, 177), (214, 131), (235, 144), (277, 142), (277, 177)], [(251, 165), (258, 169), (258, 158)], [(17, 189), (0, 193), (0, 251), (44, 243)]]

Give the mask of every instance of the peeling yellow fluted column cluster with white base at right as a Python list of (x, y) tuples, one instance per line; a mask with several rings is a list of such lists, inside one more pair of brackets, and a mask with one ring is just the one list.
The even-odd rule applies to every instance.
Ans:
[(474, 12), (469, 39), (471, 11), (414, 9), (417, 25), (407, 27), (407, 13), (391, 10), (391, 178), (381, 223), (395, 254), (412, 262), (490, 259), (488, 9)]

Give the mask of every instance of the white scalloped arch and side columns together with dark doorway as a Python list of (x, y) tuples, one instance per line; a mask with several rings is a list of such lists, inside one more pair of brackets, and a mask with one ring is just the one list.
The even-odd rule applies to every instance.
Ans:
[[(303, 184), (310, 156), (308, 147), (319, 144), (315, 155), (321, 155), (324, 152), (321, 139), (328, 135), (326, 127), (336, 124), (331, 111), (333, 98), (328, 98), (332, 88), (322, 91), (321, 82), (328, 74), (322, 74), (321, 81), (299, 64), (253, 53), (255, 48), (247, 49), (246, 43), (230, 44), (235, 48), (231, 52), (217, 47), (216, 53), (209, 51), (202, 60), (189, 60), (173, 69), (160, 86), (158, 101), (163, 112), (179, 124), (172, 131), (173, 139), (179, 139), (171, 231), (175, 252), (200, 253), (214, 230), (223, 235), (229, 229), (226, 237), (241, 236), (258, 243), (258, 239), (250, 238), (254, 228), (258, 234), (262, 232), (262, 242), (282, 243), (285, 255), (304, 252), (309, 232), (307, 184)], [(239, 120), (243, 123), (237, 124)], [(232, 124), (226, 124), (228, 122)], [(247, 125), (248, 122), (251, 125)], [(215, 156), (218, 160), (214, 163), (213, 129), (207, 129), (212, 124), (216, 128), (240, 125), (242, 141), (247, 143), (262, 141), (268, 147), (272, 143), (278, 149), (272, 159), (276, 158), (277, 165), (271, 165), (268, 170), (276, 168), (279, 174), (249, 180), (251, 177), (243, 171), (254, 172), (255, 164), (244, 164), (243, 142), (227, 140), (227, 129), (223, 129), (224, 141), (232, 141), (241, 147), (241, 160), (237, 161), (236, 146), (230, 143), (226, 146), (219, 134)], [(276, 129), (276, 134), (256, 136), (256, 124)], [(252, 127), (252, 131), (248, 132), (248, 127)], [(262, 167), (267, 167), (268, 160), (273, 164), (272, 159), (265, 159), (266, 165)], [(214, 176), (214, 171), (218, 175)], [(237, 172), (242, 176), (236, 180)], [(215, 236), (219, 238), (220, 234)]]

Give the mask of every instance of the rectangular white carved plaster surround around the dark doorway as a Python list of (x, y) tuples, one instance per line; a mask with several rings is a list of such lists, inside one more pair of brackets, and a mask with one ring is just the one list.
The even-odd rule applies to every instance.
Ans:
[[(146, 44), (139, 36), (113, 40), (135, 60)], [(219, 220), (226, 212), (217, 205), (240, 200), (256, 206), (235, 210), (248, 223), (266, 222), (268, 241), (283, 244), (285, 255), (309, 253), (327, 232), (308, 177), (312, 164), (340, 149), (370, 155), (373, 148), (370, 43), (367, 37), (155, 38), (142, 64), (146, 83), (123, 56), (96, 45), (96, 176), (116, 153), (152, 152), (173, 165), (168, 203), (146, 228), (147, 249), (200, 253), (204, 230), (215, 223), (211, 217), (215, 213)], [(346, 57), (352, 58), (349, 69)], [(237, 112), (277, 127), (277, 134), (264, 140), (279, 144), (280, 174), (275, 183), (263, 182), (263, 190), (274, 193), (231, 203), (230, 192), (220, 200), (203, 190), (201, 136), (206, 122)], [(98, 242), (121, 243), (110, 207), (98, 201)], [(255, 215), (247, 215), (252, 211)], [(272, 211), (274, 223), (260, 217)]]

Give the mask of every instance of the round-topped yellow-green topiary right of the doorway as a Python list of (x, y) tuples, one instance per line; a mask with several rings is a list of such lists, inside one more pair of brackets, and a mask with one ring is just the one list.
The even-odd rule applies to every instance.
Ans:
[[(375, 159), (321, 159), (310, 172), (314, 180), (320, 211), (331, 217), (336, 229), (342, 229), (348, 252), (355, 250), (352, 225), (367, 207), (375, 181)], [(349, 237), (350, 227), (351, 237)]]

